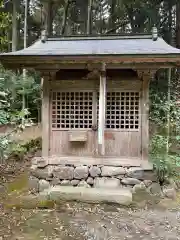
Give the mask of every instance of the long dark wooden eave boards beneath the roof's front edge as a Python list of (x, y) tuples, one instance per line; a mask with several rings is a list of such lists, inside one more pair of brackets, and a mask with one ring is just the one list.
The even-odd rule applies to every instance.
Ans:
[[(129, 66), (139, 67), (142, 68), (142, 66), (145, 66), (145, 68), (150, 68), (148, 63), (152, 63), (154, 66), (157, 67), (157, 64), (159, 64), (158, 68), (161, 68), (164, 66), (164, 64), (176, 64), (180, 63), (180, 57), (179, 55), (146, 55), (144, 57), (139, 55), (125, 55), (125, 56), (9, 56), (8, 58), (1, 58), (1, 61), (3, 64), (16, 64), (18, 67), (23, 67), (26, 65), (32, 66), (33, 68), (38, 68), (39, 64), (46, 64), (47, 68), (51, 64), (77, 64), (77, 63), (85, 63), (87, 64), (89, 61), (92, 61), (94, 64), (99, 64), (101, 62), (105, 62), (106, 64), (124, 64), (121, 68), (127, 68), (126, 64)], [(139, 64), (139, 66), (135, 66), (135, 64)], [(119, 67), (118, 67), (119, 68)]]

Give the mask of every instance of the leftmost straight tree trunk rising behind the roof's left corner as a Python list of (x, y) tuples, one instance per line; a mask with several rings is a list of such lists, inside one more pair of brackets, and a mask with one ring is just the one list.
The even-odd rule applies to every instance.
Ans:
[(12, 52), (17, 50), (17, 32), (18, 32), (17, 8), (18, 8), (17, 0), (14, 0), (12, 14)]

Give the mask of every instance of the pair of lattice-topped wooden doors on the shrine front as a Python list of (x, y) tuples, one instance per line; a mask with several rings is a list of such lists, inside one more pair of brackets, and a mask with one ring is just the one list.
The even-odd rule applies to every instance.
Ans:
[[(93, 155), (97, 149), (97, 132), (92, 125), (98, 120), (99, 97), (93, 91), (54, 91), (51, 96), (51, 148), (53, 154)], [(93, 106), (97, 106), (94, 111)], [(139, 156), (140, 153), (140, 93), (109, 91), (106, 96), (106, 154)], [(94, 116), (95, 114), (96, 116)], [(88, 130), (87, 142), (81, 149), (68, 141), (68, 130)], [(66, 131), (67, 130), (67, 131)], [(137, 146), (138, 144), (138, 146)], [(79, 152), (78, 152), (79, 151)]]

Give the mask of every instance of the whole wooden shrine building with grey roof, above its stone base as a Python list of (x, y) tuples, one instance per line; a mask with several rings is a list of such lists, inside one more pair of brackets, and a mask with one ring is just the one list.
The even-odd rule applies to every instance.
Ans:
[(42, 74), (44, 157), (147, 162), (149, 82), (158, 69), (180, 65), (180, 50), (156, 32), (43, 36), (0, 61)]

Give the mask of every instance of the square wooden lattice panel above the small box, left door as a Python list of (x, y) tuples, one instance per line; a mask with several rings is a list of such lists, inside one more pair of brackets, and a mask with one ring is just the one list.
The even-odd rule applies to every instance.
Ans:
[(91, 128), (92, 96), (92, 92), (53, 92), (52, 128)]

